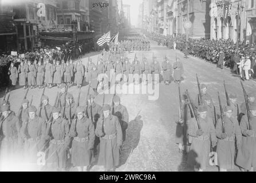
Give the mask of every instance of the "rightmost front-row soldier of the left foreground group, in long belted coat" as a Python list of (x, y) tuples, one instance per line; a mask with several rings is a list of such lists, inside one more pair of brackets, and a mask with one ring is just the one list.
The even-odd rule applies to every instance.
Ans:
[(110, 105), (103, 106), (103, 116), (99, 118), (95, 134), (100, 137), (98, 165), (114, 171), (119, 165), (122, 146), (122, 128), (116, 116), (110, 114)]

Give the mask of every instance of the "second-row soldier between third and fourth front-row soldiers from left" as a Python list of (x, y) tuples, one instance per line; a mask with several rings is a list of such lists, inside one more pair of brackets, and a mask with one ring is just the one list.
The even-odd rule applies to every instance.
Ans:
[(65, 108), (61, 109), (61, 114), (63, 114), (63, 110), (65, 110), (64, 112), (64, 118), (68, 120), (69, 125), (71, 125), (72, 119), (75, 117), (75, 113), (76, 113), (76, 104), (74, 101), (74, 98), (72, 96), (72, 94), (68, 93), (66, 98), (66, 104), (65, 104)]

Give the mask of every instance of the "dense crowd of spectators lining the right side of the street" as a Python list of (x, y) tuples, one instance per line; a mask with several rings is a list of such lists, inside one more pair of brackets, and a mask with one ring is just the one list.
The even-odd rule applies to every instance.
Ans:
[(183, 51), (185, 58), (193, 55), (208, 62), (215, 63), (217, 67), (230, 67), (233, 73), (238, 74), (245, 80), (256, 78), (256, 52), (255, 45), (244, 45), (239, 42), (235, 45), (230, 39), (190, 39), (185, 41), (185, 36), (177, 35), (173, 38), (157, 33), (148, 33), (148, 37), (170, 49)]

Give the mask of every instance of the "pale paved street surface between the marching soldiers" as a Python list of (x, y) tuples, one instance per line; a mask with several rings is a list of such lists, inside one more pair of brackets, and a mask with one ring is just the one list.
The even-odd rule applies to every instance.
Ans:
[[(224, 96), (223, 79), (226, 81), (228, 92), (238, 94), (239, 104), (243, 102), (242, 88), (239, 78), (230, 73), (230, 70), (224, 68), (220, 70), (216, 65), (208, 63), (198, 58), (189, 56), (184, 59), (183, 53), (166, 49), (166, 47), (157, 46), (156, 42), (152, 42), (152, 50), (150, 51), (134, 51), (128, 54), (127, 57), (133, 61), (134, 54), (137, 53), (139, 61), (142, 54), (145, 55), (149, 62), (152, 62), (152, 52), (156, 55), (157, 60), (163, 61), (164, 55), (170, 57), (172, 62), (175, 60), (175, 55), (181, 58), (184, 66), (184, 81), (181, 83), (181, 91), (189, 90), (192, 98), (195, 98), (198, 89), (196, 83), (196, 73), (200, 83), (205, 83), (208, 86), (208, 93), (211, 94), (215, 106), (218, 109), (217, 92), (220, 92), (223, 104), (226, 102)], [(96, 63), (98, 55), (91, 57)], [(87, 57), (83, 58), (83, 64), (87, 64)], [(85, 83), (86, 84), (86, 83)], [(255, 81), (245, 81), (246, 90), (252, 91), (255, 89)], [(87, 87), (82, 87), (80, 104), (84, 105), (84, 100), (87, 94)], [(42, 90), (29, 90), (28, 99), (33, 96), (33, 105), (38, 107)], [(45, 94), (49, 96), (50, 103), (53, 104), (59, 89), (53, 87), (45, 90)], [(75, 101), (79, 90), (76, 86), (69, 89), (73, 94)], [(11, 110), (15, 113), (20, 108), (24, 89), (16, 89), (11, 92), (10, 104)], [(1, 92), (1, 97), (3, 92)], [(121, 166), (117, 171), (191, 171), (185, 163), (185, 157), (178, 153), (175, 142), (176, 123), (174, 122), (179, 117), (179, 93), (176, 83), (171, 83), (169, 86), (160, 83), (159, 98), (156, 101), (149, 101), (147, 94), (121, 94), (121, 104), (125, 105), (129, 112), (129, 127), (126, 132), (126, 141), (123, 144), (121, 154)], [(113, 95), (106, 96), (106, 103), (111, 104)], [(102, 95), (96, 97), (96, 102), (102, 105)], [(93, 166), (91, 171), (103, 170), (99, 166)], [(216, 167), (209, 167), (208, 171), (217, 171)]]

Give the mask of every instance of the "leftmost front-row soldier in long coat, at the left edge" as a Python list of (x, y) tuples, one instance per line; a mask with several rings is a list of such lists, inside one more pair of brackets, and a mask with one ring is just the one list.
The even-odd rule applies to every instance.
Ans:
[[(0, 136), (1, 136), (1, 148), (0, 148), (0, 169), (4, 171), (6, 165), (10, 165), (15, 161), (15, 153), (17, 148), (18, 132), (20, 131), (20, 124), (15, 113), (10, 110), (10, 105), (3, 105), (2, 116), (0, 122)], [(16, 154), (17, 155), (17, 154)]]

